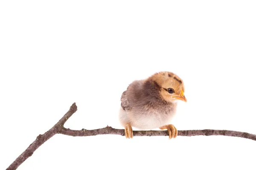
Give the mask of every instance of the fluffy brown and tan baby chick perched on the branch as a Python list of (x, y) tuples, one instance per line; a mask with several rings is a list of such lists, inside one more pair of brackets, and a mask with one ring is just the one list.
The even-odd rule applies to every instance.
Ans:
[(148, 79), (135, 80), (122, 93), (119, 121), (125, 127), (125, 137), (132, 138), (132, 127), (167, 129), (169, 139), (178, 134), (169, 125), (176, 113), (177, 100), (186, 102), (183, 81), (172, 72), (159, 72)]

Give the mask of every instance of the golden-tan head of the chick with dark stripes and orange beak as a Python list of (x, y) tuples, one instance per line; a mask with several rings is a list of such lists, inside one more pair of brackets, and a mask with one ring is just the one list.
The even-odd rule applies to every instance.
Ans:
[(157, 86), (161, 97), (166, 102), (177, 102), (177, 100), (186, 102), (183, 81), (176, 74), (172, 72), (159, 72), (151, 76), (151, 80)]

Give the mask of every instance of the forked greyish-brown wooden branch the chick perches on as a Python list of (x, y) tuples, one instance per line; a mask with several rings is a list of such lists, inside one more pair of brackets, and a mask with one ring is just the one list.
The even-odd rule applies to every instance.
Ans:
[[(16, 170), (26, 159), (28, 159), (35, 150), (40, 147), (44, 142), (50, 139), (57, 133), (69, 135), (69, 136), (95, 136), (95, 135), (121, 135), (125, 136), (124, 129), (114, 129), (110, 126), (95, 129), (95, 130), (70, 130), (64, 127), (64, 123), (70, 116), (77, 111), (76, 103), (73, 103), (70, 106), (70, 110), (46, 133), (43, 135), (37, 136), (35, 141), (29, 145), (29, 147), (19, 156), (17, 159), (6, 169), (6, 170)], [(221, 136), (236, 136), (246, 139), (252, 139), (256, 141), (256, 135), (246, 132), (232, 131), (232, 130), (178, 130), (178, 136), (212, 136), (212, 135), (221, 135)], [(167, 130), (140, 130), (133, 131), (133, 136), (169, 136)]]

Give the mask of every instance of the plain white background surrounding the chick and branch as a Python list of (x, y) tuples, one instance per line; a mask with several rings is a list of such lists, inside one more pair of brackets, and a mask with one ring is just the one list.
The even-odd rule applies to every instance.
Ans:
[[(185, 83), (178, 130), (256, 134), (255, 9), (249, 0), (1, 1), (0, 169), (73, 102), (65, 127), (123, 128), (122, 92), (158, 71)], [(18, 169), (253, 169), (255, 146), (227, 136), (58, 134)]]

